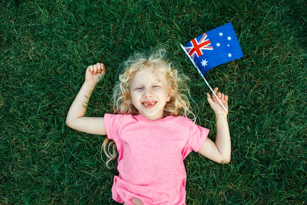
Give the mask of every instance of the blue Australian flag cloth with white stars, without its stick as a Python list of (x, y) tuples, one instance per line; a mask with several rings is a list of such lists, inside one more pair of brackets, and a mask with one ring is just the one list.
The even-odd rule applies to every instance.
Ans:
[(192, 39), (184, 49), (202, 74), (244, 56), (231, 22)]

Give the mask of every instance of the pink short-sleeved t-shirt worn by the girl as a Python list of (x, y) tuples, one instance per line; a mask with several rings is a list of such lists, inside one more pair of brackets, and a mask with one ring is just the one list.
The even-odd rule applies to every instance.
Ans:
[(132, 205), (182, 205), (186, 198), (183, 160), (203, 146), (209, 130), (183, 116), (149, 120), (141, 115), (104, 115), (104, 127), (119, 153), (112, 198)]

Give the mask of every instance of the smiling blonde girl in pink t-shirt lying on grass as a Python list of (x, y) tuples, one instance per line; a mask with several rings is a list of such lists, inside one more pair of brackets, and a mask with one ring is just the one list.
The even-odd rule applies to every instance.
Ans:
[[(104, 151), (107, 140), (114, 140), (119, 176), (114, 177), (112, 198), (125, 205), (186, 204), (183, 160), (192, 150), (218, 163), (230, 161), (228, 112), (207, 94), (216, 119), (213, 142), (207, 138), (208, 129), (187, 118), (195, 115), (187, 96), (180, 93), (179, 87), (186, 78), (163, 60), (163, 53), (128, 60), (130, 65), (115, 86), (114, 114), (104, 117), (84, 116), (89, 93), (105, 72), (101, 63), (88, 67), (84, 84), (67, 115), (66, 124), (72, 129), (107, 135)], [(228, 96), (220, 92), (216, 95), (228, 109)], [(111, 160), (115, 155), (108, 157)]]

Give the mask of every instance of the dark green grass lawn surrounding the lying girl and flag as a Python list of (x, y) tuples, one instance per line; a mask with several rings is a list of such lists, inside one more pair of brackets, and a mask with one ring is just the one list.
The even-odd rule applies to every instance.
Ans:
[(214, 139), (209, 90), (179, 44), (228, 22), (245, 56), (206, 77), (230, 96), (232, 161), (191, 153), (186, 203), (306, 204), (306, 8), (304, 0), (0, 1), (0, 204), (118, 204), (104, 136), (65, 125), (84, 69), (98, 61), (107, 72), (87, 116), (112, 112), (123, 60), (163, 47), (191, 78), (197, 122)]

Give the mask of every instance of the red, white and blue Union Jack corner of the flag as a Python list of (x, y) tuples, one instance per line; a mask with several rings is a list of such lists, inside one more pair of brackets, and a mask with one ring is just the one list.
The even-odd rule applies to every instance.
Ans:
[(209, 46), (211, 45), (210, 40), (206, 38), (207, 38), (207, 34), (203, 33), (202, 35), (191, 40), (191, 46), (185, 47), (186, 51), (193, 59), (194, 59), (195, 54), (197, 55), (197, 57), (200, 57), (201, 55), (203, 55), (202, 50), (213, 50), (213, 47)]

